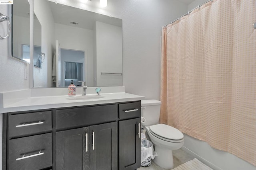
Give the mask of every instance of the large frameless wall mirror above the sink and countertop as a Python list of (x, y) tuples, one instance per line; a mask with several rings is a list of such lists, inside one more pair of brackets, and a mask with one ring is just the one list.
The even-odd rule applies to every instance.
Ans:
[(77, 65), (76, 86), (81, 80), (86, 86), (122, 86), (122, 20), (47, 0), (35, 0), (34, 12), (45, 53), (42, 68), (34, 68), (34, 87), (68, 86), (65, 63)]

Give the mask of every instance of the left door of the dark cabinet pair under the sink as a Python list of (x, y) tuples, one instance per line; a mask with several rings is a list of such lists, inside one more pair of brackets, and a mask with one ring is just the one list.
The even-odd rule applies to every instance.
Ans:
[(88, 132), (89, 127), (83, 127), (56, 133), (56, 170), (90, 169)]

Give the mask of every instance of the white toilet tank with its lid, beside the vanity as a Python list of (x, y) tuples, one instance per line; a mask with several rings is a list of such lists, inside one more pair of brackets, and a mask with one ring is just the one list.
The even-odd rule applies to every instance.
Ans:
[(159, 123), (160, 107), (159, 100), (141, 100), (141, 116), (146, 119), (143, 126)]

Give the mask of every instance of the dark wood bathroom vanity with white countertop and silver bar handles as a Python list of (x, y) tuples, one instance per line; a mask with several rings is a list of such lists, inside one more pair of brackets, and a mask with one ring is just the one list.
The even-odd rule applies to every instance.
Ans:
[[(120, 98), (114, 99), (113, 95)], [(140, 100), (143, 97), (136, 95), (131, 97), (132, 94), (126, 93), (103, 96), (104, 99), (87, 102), (67, 101), (68, 107), (56, 107), (60, 103), (52, 104), (51, 108), (24, 110), (32, 108), (27, 106), (23, 109), (20, 107), (22, 111), (2, 113), (2, 169), (135, 170), (139, 168)], [(124, 98), (124, 96), (129, 97)], [(120, 102), (117, 102), (118, 100)], [(93, 104), (94, 102), (96, 104)], [(37, 107), (40, 108), (40, 105)], [(41, 105), (41, 107), (45, 106)], [(17, 108), (13, 109), (17, 110)]]

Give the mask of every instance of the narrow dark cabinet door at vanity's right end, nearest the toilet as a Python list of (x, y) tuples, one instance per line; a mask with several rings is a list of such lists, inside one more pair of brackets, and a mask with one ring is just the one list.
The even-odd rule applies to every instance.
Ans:
[(119, 169), (135, 170), (141, 164), (140, 118), (119, 121)]

